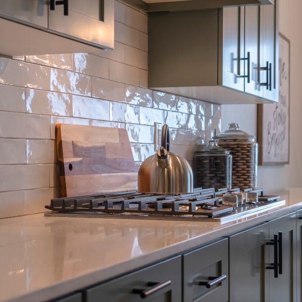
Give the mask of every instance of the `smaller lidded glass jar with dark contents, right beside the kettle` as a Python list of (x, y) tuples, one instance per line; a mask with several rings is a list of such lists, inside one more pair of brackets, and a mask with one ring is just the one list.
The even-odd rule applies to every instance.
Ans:
[(232, 155), (210, 140), (209, 145), (194, 152), (195, 187), (232, 188)]

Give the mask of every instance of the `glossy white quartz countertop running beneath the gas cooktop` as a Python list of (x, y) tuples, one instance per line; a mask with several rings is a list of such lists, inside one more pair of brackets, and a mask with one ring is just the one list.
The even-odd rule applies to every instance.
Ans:
[(47, 301), (302, 208), (302, 188), (267, 193), (285, 204), (222, 224), (43, 214), (0, 219), (0, 301)]

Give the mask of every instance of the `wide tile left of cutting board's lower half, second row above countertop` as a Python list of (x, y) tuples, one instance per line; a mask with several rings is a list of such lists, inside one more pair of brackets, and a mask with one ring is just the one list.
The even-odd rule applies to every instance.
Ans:
[(0, 166), (0, 192), (48, 187), (49, 165)]

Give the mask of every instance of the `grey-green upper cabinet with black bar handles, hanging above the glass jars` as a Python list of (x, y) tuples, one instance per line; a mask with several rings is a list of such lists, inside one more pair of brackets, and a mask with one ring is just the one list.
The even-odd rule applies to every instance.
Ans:
[(148, 86), (217, 104), (278, 101), (275, 5), (149, 13)]

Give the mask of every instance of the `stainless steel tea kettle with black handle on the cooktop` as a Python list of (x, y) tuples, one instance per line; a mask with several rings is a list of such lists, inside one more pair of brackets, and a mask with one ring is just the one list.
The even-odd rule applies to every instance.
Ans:
[(162, 146), (138, 170), (137, 191), (156, 194), (193, 192), (193, 172), (189, 163), (170, 149), (168, 125), (162, 129)]

